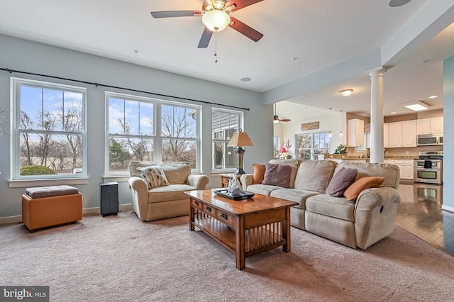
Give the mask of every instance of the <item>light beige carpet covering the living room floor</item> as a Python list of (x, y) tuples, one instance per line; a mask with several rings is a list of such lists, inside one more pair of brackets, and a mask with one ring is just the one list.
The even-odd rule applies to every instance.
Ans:
[(395, 227), (367, 250), (292, 228), (279, 247), (235, 257), (188, 217), (88, 216), (28, 233), (0, 226), (0, 285), (50, 286), (50, 301), (453, 301), (454, 257)]

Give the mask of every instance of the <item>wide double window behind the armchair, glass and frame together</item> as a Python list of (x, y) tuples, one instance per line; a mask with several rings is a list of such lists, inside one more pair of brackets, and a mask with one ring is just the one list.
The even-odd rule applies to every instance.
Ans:
[(200, 106), (106, 93), (106, 174), (128, 174), (131, 160), (189, 162), (198, 171)]

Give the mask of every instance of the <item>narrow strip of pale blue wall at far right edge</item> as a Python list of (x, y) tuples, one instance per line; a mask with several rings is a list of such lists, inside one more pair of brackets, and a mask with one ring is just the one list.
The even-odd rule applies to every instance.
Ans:
[(443, 115), (443, 208), (454, 212), (454, 56), (443, 62)]

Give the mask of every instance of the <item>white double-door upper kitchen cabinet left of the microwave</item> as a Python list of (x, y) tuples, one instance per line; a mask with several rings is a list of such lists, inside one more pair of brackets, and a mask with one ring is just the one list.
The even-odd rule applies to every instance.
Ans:
[(416, 147), (416, 120), (389, 123), (389, 147)]

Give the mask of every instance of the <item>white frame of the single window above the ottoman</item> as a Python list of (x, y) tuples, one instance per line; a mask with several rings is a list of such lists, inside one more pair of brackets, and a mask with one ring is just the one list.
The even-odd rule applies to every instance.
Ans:
[[(87, 178), (87, 88), (68, 84), (44, 82), (33, 79), (11, 77), (11, 108), (13, 108), (13, 121), (11, 123), (11, 181), (39, 181), (58, 179), (86, 179)], [(82, 130), (39, 130), (21, 128), (21, 87), (32, 86), (40, 89), (74, 92), (82, 94)], [(21, 176), (21, 133), (49, 133), (51, 135), (81, 135), (82, 137), (82, 172), (57, 175), (26, 175)]]

